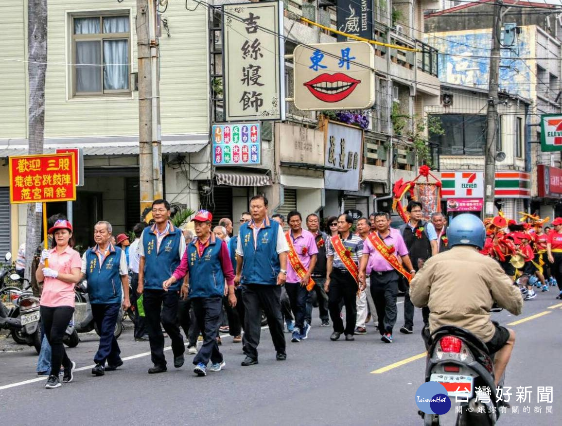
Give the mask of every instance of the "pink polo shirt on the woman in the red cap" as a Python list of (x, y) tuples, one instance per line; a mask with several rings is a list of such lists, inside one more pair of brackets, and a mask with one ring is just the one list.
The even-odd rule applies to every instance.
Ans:
[[(80, 253), (70, 247), (66, 247), (65, 251), (60, 254), (57, 253), (56, 248), (49, 250), (49, 253), (49, 268), (58, 273), (70, 274), (72, 268), (80, 269), (82, 266)], [(57, 278), (45, 277), (40, 303), (41, 306), (48, 307), (74, 307), (74, 283), (65, 283)]]

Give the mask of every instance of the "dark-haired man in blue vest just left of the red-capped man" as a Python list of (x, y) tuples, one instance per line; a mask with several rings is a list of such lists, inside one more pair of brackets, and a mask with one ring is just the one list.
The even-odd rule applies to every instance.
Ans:
[(163, 373), (166, 368), (164, 356), (164, 334), (160, 323), (172, 341), (174, 367), (180, 368), (185, 359), (183, 337), (178, 326), (179, 283), (167, 288), (162, 283), (178, 268), (185, 252), (182, 230), (169, 220), (170, 203), (155, 200), (152, 203), (154, 225), (144, 228), (139, 246), (139, 283), (137, 293), (144, 293), (144, 317), (148, 330), (148, 341), (153, 368), (148, 374)]

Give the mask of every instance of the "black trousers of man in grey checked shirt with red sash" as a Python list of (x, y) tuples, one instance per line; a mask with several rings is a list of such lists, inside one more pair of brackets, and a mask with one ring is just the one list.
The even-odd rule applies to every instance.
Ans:
[[(330, 274), (330, 291), (328, 310), (334, 332), (355, 334), (355, 323), (357, 321), (357, 283), (355, 278), (346, 270), (334, 268)], [(346, 307), (346, 328), (343, 329), (343, 320), (340, 316), (342, 313), (341, 301)]]

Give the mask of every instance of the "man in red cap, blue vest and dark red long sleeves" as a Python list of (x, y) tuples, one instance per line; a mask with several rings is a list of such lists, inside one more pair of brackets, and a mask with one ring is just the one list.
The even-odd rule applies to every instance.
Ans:
[(189, 273), (189, 280), (182, 285), (181, 294), (182, 297), (187, 297), (189, 293), (195, 318), (204, 339), (203, 345), (193, 359), (195, 365), (193, 372), (198, 376), (205, 376), (209, 360), (211, 360), (209, 371), (220, 371), (225, 365), (216, 337), (223, 310), (225, 280), (228, 285), (228, 302), (230, 306), (236, 306), (234, 270), (226, 242), (215, 237), (211, 232), (211, 213), (200, 210), (192, 221), (195, 222), (197, 238), (189, 243), (182, 262), (172, 276), (162, 283), (162, 287), (167, 291)]

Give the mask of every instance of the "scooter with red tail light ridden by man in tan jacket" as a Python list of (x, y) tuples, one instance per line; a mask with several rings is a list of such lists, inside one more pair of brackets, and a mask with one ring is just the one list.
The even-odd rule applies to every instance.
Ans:
[[(501, 311), (501, 308), (492, 309)], [(427, 359), (425, 363), (425, 381), (439, 382), (447, 390), (449, 397), (461, 402), (461, 412), (457, 414), (457, 426), (488, 426), (497, 423), (500, 407), (507, 404), (496, 398), (494, 385), (493, 355), (478, 337), (468, 330), (452, 325), (435, 330), (426, 340)], [(498, 382), (502, 388), (504, 376)], [(490, 402), (477, 401), (475, 389), (491, 389)], [(478, 407), (484, 407), (478, 412)], [(495, 408), (492, 408), (495, 407)], [(438, 426), (439, 415), (418, 414), (426, 426)]]

